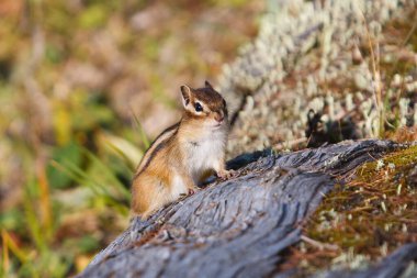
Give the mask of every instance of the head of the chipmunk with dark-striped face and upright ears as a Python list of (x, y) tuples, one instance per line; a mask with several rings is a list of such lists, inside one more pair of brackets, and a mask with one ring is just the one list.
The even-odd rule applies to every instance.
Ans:
[(183, 85), (181, 94), (184, 119), (198, 120), (204, 126), (213, 129), (228, 125), (226, 101), (208, 81), (205, 81), (204, 88), (199, 89)]

